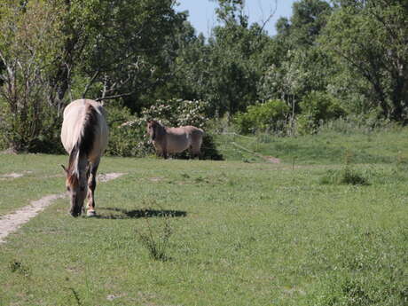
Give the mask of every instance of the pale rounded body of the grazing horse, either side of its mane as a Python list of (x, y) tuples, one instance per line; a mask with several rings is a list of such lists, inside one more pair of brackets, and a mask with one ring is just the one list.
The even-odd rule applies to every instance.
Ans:
[(95, 114), (93, 129), (94, 139), (90, 155), (99, 156), (105, 151), (107, 145), (108, 128), (106, 124), (106, 112), (104, 107), (97, 101), (90, 99), (79, 99), (71, 102), (64, 110), (64, 121), (62, 122), (61, 141), (67, 153), (71, 153), (73, 147), (83, 135), (85, 118), (87, 113)]

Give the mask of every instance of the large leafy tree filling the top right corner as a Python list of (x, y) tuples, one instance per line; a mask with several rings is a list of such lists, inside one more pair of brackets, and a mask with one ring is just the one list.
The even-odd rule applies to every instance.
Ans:
[(320, 42), (338, 65), (366, 83), (355, 90), (373, 103), (369, 108), (377, 107), (382, 116), (406, 122), (408, 5), (402, 0), (336, 4)]

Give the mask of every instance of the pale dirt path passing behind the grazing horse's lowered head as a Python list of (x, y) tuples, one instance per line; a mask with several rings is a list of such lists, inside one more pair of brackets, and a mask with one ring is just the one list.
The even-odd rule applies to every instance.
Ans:
[[(108, 182), (124, 173), (106, 173), (98, 175), (98, 181), (101, 183)], [(22, 224), (26, 224), (29, 219), (37, 216), (44, 208), (51, 205), (52, 201), (67, 197), (67, 193), (46, 195), (40, 200), (33, 200), (24, 208), (16, 210), (10, 215), (0, 217), (0, 243), (5, 242), (5, 238), (12, 231), (17, 231)]]

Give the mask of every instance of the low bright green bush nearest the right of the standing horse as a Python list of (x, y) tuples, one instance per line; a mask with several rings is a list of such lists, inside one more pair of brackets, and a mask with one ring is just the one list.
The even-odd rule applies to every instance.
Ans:
[(247, 106), (246, 113), (236, 114), (234, 123), (241, 134), (257, 131), (273, 131), (286, 129), (290, 107), (281, 100), (269, 100), (254, 106)]

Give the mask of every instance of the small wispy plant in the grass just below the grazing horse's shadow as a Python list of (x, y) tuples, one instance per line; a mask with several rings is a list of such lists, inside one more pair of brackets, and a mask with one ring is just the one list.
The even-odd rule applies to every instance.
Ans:
[(154, 260), (166, 262), (169, 260), (167, 253), (169, 247), (169, 238), (173, 233), (169, 225), (169, 216), (163, 215), (164, 222), (161, 226), (153, 228), (149, 222), (149, 217), (145, 216), (146, 230), (137, 231), (137, 238), (143, 247), (149, 252)]

